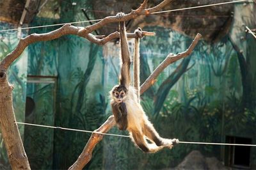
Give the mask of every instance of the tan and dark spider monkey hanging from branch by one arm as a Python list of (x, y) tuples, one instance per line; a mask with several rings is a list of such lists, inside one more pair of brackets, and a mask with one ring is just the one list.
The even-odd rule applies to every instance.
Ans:
[[(117, 13), (116, 18), (122, 19), (124, 15), (122, 12)], [(120, 84), (109, 92), (116, 125), (120, 130), (128, 130), (134, 144), (145, 153), (154, 153), (164, 147), (172, 148), (173, 144), (179, 143), (179, 140), (164, 139), (159, 136), (139, 103), (138, 92), (130, 86), (131, 60), (125, 22), (119, 22), (119, 30), (122, 59)], [(148, 143), (146, 137), (151, 143)]]

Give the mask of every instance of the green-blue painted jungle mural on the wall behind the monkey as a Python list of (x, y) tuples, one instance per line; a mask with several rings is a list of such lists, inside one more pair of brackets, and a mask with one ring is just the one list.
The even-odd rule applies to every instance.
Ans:
[[(84, 19), (77, 14), (79, 6), (67, 10), (67, 4), (61, 5), (51, 15), (40, 13), (31, 26)], [(256, 49), (253, 48), (256, 40), (237, 27), (241, 23), (255, 27), (256, 15), (253, 4), (241, 14), (242, 6), (236, 4), (232, 29), (226, 36), (216, 43), (198, 43), (191, 56), (168, 66), (154, 86), (141, 96), (143, 109), (163, 137), (210, 143), (246, 139), (248, 143), (256, 143)], [(29, 34), (53, 29), (56, 27), (31, 29)], [(183, 52), (193, 40), (164, 27), (143, 30), (154, 31), (156, 36), (141, 40), (141, 82), (170, 52)], [(0, 41), (3, 58), (17, 39), (12, 34), (1, 36), (8, 37)], [(129, 44), (132, 54), (133, 40)], [(17, 120), (83, 130), (98, 128), (111, 115), (108, 91), (118, 83), (119, 49), (118, 43), (101, 47), (76, 36), (30, 45), (18, 61), (26, 66), (28, 56), (28, 76), (27, 68), (18, 63), (12, 66), (10, 74), (10, 81), (15, 83)], [(127, 135), (117, 128), (109, 133)], [(76, 161), (89, 137), (90, 134), (83, 132), (26, 126), (24, 146), (31, 168), (67, 169)], [(3, 143), (0, 144), (0, 160), (5, 164), (2, 162), (7, 162), (6, 153), (2, 150)], [(225, 162), (225, 166), (241, 164), (256, 168), (255, 148), (249, 148), (249, 160), (240, 163), (228, 158), (231, 149), (179, 144), (172, 150), (145, 154), (125, 137), (106, 136), (97, 144), (92, 160), (84, 169), (166, 169), (179, 166), (192, 151), (214, 157)]]

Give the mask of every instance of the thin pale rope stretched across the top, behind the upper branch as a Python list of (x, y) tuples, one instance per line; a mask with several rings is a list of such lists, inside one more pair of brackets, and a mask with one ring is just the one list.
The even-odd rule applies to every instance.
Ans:
[[(175, 10), (166, 10), (166, 11), (161, 11), (161, 12), (153, 12), (153, 13), (150, 13), (150, 15), (151, 14), (157, 14), (157, 13), (165, 13), (165, 12), (176, 12), (176, 11), (181, 11), (181, 10), (191, 10), (191, 9), (195, 9), (195, 8), (205, 8), (205, 7), (208, 7), (208, 6), (217, 6), (217, 5), (221, 5), (221, 4), (241, 3), (241, 2), (245, 2), (245, 1), (250, 1), (250, 0), (237, 0), (237, 1), (229, 1), (229, 2), (225, 2), (225, 3), (205, 4), (205, 5), (201, 5), (201, 6), (192, 6), (192, 7), (188, 7), (188, 8), (179, 8), (179, 9), (175, 9)], [(5, 31), (17, 31), (19, 29), (34, 29), (34, 28), (38, 28), (38, 27), (63, 26), (65, 24), (79, 24), (79, 23), (84, 23), (84, 22), (95, 22), (95, 21), (100, 21), (100, 20), (102, 20), (102, 19), (83, 20), (83, 21), (77, 21), (77, 22), (66, 22), (66, 23), (62, 23), (62, 24), (51, 24), (51, 25), (45, 25), (45, 26), (4, 29), (4, 30), (0, 30), (0, 33), (5, 32)]]

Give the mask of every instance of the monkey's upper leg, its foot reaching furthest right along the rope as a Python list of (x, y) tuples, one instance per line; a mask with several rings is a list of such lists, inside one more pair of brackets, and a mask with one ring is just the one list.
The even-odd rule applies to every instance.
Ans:
[(179, 140), (177, 139), (164, 139), (163, 137), (160, 137), (152, 123), (148, 120), (145, 121), (143, 132), (148, 139), (154, 141), (157, 146), (172, 148), (173, 144), (179, 143)]

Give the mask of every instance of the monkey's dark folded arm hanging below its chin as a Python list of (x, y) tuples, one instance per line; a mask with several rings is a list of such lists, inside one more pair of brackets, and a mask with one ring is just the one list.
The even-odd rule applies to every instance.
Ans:
[(120, 130), (126, 130), (128, 125), (126, 105), (124, 103), (111, 103), (111, 108), (115, 117), (117, 127)]

